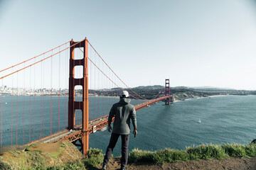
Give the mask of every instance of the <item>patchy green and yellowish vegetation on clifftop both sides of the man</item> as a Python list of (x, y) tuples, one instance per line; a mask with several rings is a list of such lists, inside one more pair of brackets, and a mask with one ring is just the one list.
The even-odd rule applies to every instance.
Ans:
[[(69, 142), (70, 143), (70, 142)], [(69, 146), (69, 144), (68, 144)], [(70, 146), (69, 146), (70, 147)], [(73, 146), (74, 147), (74, 146)], [(26, 151), (12, 152), (9, 155), (9, 159), (3, 160), (3, 155), (0, 159), (0, 169), (43, 169), (43, 170), (63, 170), (63, 169), (98, 169), (102, 166), (103, 154), (100, 149), (90, 149), (87, 152), (87, 158), (77, 157), (73, 162), (63, 162), (60, 158), (60, 149), (58, 152), (51, 154), (50, 157), (55, 157), (55, 159), (61, 159), (60, 162), (55, 164), (54, 162), (46, 159), (46, 155), (42, 154), (42, 151), (30, 149), (28, 147)], [(63, 147), (68, 149), (68, 147)], [(33, 150), (33, 151), (32, 151)], [(78, 149), (77, 149), (78, 151)], [(52, 152), (53, 153), (53, 152)], [(14, 156), (16, 154), (16, 156)], [(15, 166), (6, 162), (6, 160), (11, 161), (14, 157), (19, 157), (21, 154), (23, 159), (16, 159)], [(49, 153), (48, 153), (49, 154)], [(33, 159), (27, 157), (30, 155)], [(150, 162), (151, 164), (165, 164), (173, 162), (188, 162), (191, 160), (201, 160), (201, 159), (226, 159), (229, 157), (255, 157), (256, 156), (256, 144), (240, 145), (240, 144), (223, 144), (223, 145), (200, 145), (198, 147), (187, 147), (186, 150), (177, 149), (164, 149), (156, 150), (155, 152), (142, 151), (139, 149), (133, 149), (129, 153), (129, 162)], [(27, 165), (26, 165), (27, 164)]]

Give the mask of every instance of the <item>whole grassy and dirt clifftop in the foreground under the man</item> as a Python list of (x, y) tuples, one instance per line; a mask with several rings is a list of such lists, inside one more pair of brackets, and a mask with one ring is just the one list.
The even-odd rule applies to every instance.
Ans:
[[(87, 158), (83, 158), (69, 141), (15, 147), (7, 147), (5, 149), (9, 149), (9, 152), (1, 152), (0, 169), (98, 170), (101, 169), (104, 156), (100, 149), (90, 149)], [(256, 169), (255, 151), (256, 145), (253, 143), (200, 145), (186, 150), (164, 149), (154, 152), (133, 149), (129, 152), (127, 169)], [(113, 157), (107, 169), (116, 170), (119, 167), (120, 157)]]

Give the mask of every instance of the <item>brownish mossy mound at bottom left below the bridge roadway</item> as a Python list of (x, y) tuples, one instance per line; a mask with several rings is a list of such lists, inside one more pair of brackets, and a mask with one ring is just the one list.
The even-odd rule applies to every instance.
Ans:
[(82, 154), (68, 140), (30, 146), (1, 147), (0, 169), (43, 169), (82, 159)]

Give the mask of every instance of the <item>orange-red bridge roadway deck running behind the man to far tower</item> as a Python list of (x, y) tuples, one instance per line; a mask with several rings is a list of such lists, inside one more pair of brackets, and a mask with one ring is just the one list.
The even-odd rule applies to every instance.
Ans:
[[(157, 103), (158, 101), (163, 101), (166, 98), (169, 98), (169, 96), (164, 96), (161, 98), (156, 98), (154, 100), (145, 101), (144, 103), (139, 103), (137, 105), (134, 105), (134, 107), (136, 111), (139, 111), (142, 108), (148, 107), (151, 104)], [(95, 120), (91, 120), (89, 122), (89, 128), (86, 131), (89, 131), (90, 133), (92, 133), (92, 132), (96, 132), (97, 130), (102, 130), (102, 128), (104, 128), (107, 125), (107, 120), (108, 120), (108, 115), (102, 116), (100, 118), (96, 118)], [(112, 121), (114, 121), (114, 118)], [(43, 137), (39, 140), (29, 142), (26, 145), (32, 145), (32, 144), (41, 143), (41, 142), (43, 143), (56, 142), (58, 140), (70, 140), (70, 142), (74, 142), (75, 140), (78, 140), (81, 137), (82, 137), (82, 124), (75, 126), (74, 130), (66, 129), (66, 130), (57, 132), (53, 135)]]

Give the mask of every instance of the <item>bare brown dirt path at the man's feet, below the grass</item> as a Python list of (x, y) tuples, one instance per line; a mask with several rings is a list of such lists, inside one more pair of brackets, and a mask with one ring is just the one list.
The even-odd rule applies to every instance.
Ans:
[[(107, 168), (116, 170), (120, 168), (120, 158), (111, 159)], [(127, 170), (154, 170), (154, 169), (169, 169), (169, 170), (187, 170), (187, 169), (228, 169), (228, 170), (243, 170), (256, 169), (256, 157), (250, 158), (229, 158), (229, 159), (213, 159), (191, 162), (168, 163), (163, 165), (151, 164), (150, 162), (127, 164)]]

